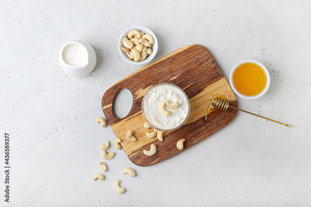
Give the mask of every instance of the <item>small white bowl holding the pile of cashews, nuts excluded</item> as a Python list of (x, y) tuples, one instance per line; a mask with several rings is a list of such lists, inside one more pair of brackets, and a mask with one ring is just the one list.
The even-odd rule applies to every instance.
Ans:
[[(151, 55), (148, 55), (148, 56), (146, 57), (146, 59), (143, 60), (143, 61), (137, 61), (137, 62), (136, 62), (136, 61), (130, 59), (130, 58), (125, 54), (125, 52), (122, 50), (122, 47), (124, 47), (124, 46), (123, 46), (123, 39), (124, 39), (125, 37), (128, 37), (128, 32), (131, 31), (131, 30), (133, 30), (133, 29), (136, 29), (136, 30), (138, 30), (138, 31), (140, 31), (140, 32), (143, 32), (143, 33), (145, 33), (145, 34), (150, 34), (150, 35), (153, 37), (154, 41), (155, 41), (155, 43), (153, 43), (153, 44), (152, 44), (152, 47), (151, 47), (151, 49), (152, 49)], [(126, 30), (121, 34), (120, 39), (119, 39), (119, 43), (118, 43), (118, 47), (119, 47), (119, 52), (120, 52), (120, 54), (121, 54), (121, 56), (123, 57), (124, 60), (126, 60), (126, 61), (128, 61), (129, 63), (132, 63), (132, 64), (134, 64), (134, 65), (142, 65), (142, 64), (146, 64), (146, 63), (152, 61), (152, 59), (156, 56), (156, 52), (158, 51), (158, 40), (156, 39), (156, 35), (155, 35), (150, 29), (148, 29), (148, 28), (146, 28), (146, 27), (143, 27), (143, 26), (133, 26), (133, 27), (130, 27), (130, 28), (126, 29)]]

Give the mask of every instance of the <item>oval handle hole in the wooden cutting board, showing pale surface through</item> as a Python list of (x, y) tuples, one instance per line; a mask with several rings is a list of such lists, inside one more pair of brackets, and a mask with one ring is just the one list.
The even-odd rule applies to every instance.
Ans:
[(122, 119), (128, 115), (133, 106), (133, 95), (127, 88), (122, 88), (115, 95), (112, 103), (112, 111), (115, 117)]

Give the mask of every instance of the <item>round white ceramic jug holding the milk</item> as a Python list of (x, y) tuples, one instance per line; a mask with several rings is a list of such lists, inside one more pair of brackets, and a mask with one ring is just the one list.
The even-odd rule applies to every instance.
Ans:
[[(78, 47), (83, 48), (83, 52), (86, 55), (85, 59), (85, 64), (79, 65), (79, 66), (74, 66), (74, 65), (69, 65), (66, 63), (66, 60), (63, 59), (63, 56), (66, 51), (64, 51), (65, 47), (71, 44), (77, 44)], [(73, 51), (74, 52), (74, 51)], [(72, 53), (73, 54), (73, 53)], [(151, 53), (152, 54), (152, 53)], [(89, 73), (92, 72), (92, 70), (95, 68), (96, 65), (96, 53), (94, 48), (84, 40), (72, 40), (67, 43), (65, 43), (59, 53), (58, 53), (58, 62), (62, 70), (67, 73), (70, 76), (81, 78)]]

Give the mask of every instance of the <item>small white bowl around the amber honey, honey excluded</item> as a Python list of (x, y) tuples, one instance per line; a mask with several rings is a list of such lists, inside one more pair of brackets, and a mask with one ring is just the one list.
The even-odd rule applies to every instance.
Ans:
[[(265, 72), (265, 75), (266, 75), (266, 78), (267, 78), (267, 83), (266, 83), (266, 86), (265, 88), (262, 90), (262, 92), (260, 92), (259, 94), (255, 95), (255, 96), (245, 96), (243, 94), (241, 94), (235, 87), (234, 87), (234, 83), (233, 83), (233, 73), (235, 71), (235, 69), (237, 67), (239, 67), (241, 64), (243, 63), (255, 63), (257, 65), (259, 65), (262, 70)], [(256, 99), (256, 98), (259, 98), (259, 97), (262, 97), (269, 89), (270, 87), (270, 74), (269, 74), (269, 71), (267, 70), (267, 68), (262, 65), (260, 62), (258, 61), (254, 61), (254, 60), (245, 60), (245, 61), (241, 61), (239, 63), (237, 63), (236, 65), (234, 65), (233, 69), (231, 70), (231, 73), (230, 73), (230, 85), (231, 85), (231, 88), (233, 89), (233, 91), (239, 96), (239, 97), (242, 97), (242, 98), (245, 98), (245, 99)]]

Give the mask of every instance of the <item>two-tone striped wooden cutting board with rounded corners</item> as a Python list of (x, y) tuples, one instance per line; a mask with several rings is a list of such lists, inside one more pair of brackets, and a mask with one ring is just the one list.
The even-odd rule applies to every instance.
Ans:
[[(172, 83), (187, 94), (190, 100), (190, 115), (187, 122), (173, 132), (165, 132), (163, 141), (156, 137), (148, 138), (146, 132), (153, 129), (143, 127), (146, 122), (142, 115), (142, 98), (151, 86), (158, 83)], [(119, 90), (127, 88), (132, 92), (132, 109), (122, 119), (115, 117), (112, 104)], [(189, 45), (151, 62), (145, 67), (128, 75), (110, 87), (102, 98), (104, 115), (116, 137), (121, 139), (121, 146), (132, 163), (148, 166), (170, 158), (229, 124), (237, 110), (229, 108), (205, 121), (205, 112), (214, 95), (222, 94), (230, 101), (230, 106), (238, 107), (230, 85), (219, 69), (211, 53), (201, 45)], [(136, 142), (129, 142), (126, 132), (132, 130)], [(179, 139), (186, 139), (183, 150), (176, 147)], [(157, 147), (156, 154), (146, 156), (143, 150), (150, 150), (150, 145)]]

